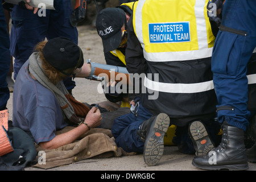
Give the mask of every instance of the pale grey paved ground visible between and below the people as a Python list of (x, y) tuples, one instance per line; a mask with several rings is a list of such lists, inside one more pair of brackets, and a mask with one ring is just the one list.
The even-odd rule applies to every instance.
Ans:
[[(84, 58), (92, 59), (96, 63), (105, 64), (102, 42), (97, 35), (96, 29), (92, 26), (79, 26), (79, 46), (84, 52)], [(85, 78), (75, 78), (76, 87), (73, 95), (78, 101), (88, 102), (89, 104), (105, 101), (104, 94), (100, 93), (99, 82), (86, 80)], [(8, 102), (10, 119), (12, 119), (11, 93)], [(148, 167), (143, 160), (143, 155), (121, 156), (118, 158), (106, 159), (87, 159), (77, 163), (69, 164), (48, 169), (47, 171), (200, 171), (192, 166), (191, 162), (194, 155), (181, 154), (176, 146), (165, 147), (164, 155), (158, 166)], [(256, 164), (249, 163), (249, 170), (256, 171)], [(41, 168), (27, 167), (26, 171), (45, 171)]]

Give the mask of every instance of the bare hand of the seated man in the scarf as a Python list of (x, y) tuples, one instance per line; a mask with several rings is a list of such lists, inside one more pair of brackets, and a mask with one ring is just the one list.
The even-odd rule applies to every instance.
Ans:
[(87, 123), (90, 128), (97, 127), (101, 124), (101, 113), (100, 109), (92, 107), (85, 118), (85, 123)]

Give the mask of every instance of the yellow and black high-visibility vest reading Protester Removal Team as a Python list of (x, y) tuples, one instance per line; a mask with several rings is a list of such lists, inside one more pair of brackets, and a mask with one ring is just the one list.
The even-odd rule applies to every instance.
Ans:
[[(133, 28), (147, 63), (142, 104), (183, 126), (216, 111), (208, 0), (139, 0)], [(177, 125), (178, 126), (178, 125)]]

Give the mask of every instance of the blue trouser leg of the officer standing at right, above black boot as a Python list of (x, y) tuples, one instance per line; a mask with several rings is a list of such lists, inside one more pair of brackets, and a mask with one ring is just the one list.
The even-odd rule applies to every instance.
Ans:
[(247, 63), (256, 46), (256, 1), (228, 0), (212, 54), (218, 121), (246, 130)]

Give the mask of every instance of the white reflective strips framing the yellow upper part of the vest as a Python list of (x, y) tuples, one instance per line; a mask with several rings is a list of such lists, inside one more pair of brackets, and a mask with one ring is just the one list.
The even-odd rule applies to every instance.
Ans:
[(135, 31), (139, 42), (142, 44), (144, 58), (147, 61), (163, 62), (163, 61), (184, 61), (203, 59), (212, 56), (212, 49), (208, 48), (207, 26), (204, 18), (205, 1), (197, 0), (195, 3), (196, 27), (197, 27), (197, 42), (199, 49), (193, 51), (177, 51), (177, 52), (146, 52), (144, 49), (142, 35), (142, 7), (146, 0), (138, 1), (137, 9), (135, 10)]

